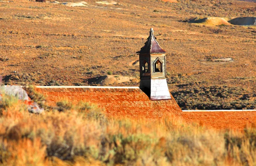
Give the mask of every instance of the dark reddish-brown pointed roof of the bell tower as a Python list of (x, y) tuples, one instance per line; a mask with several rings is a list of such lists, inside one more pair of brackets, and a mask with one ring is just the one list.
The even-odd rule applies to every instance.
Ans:
[(166, 53), (166, 51), (158, 44), (156, 37), (154, 37), (153, 28), (150, 28), (148, 41), (145, 42), (144, 47), (141, 48), (137, 53)]

